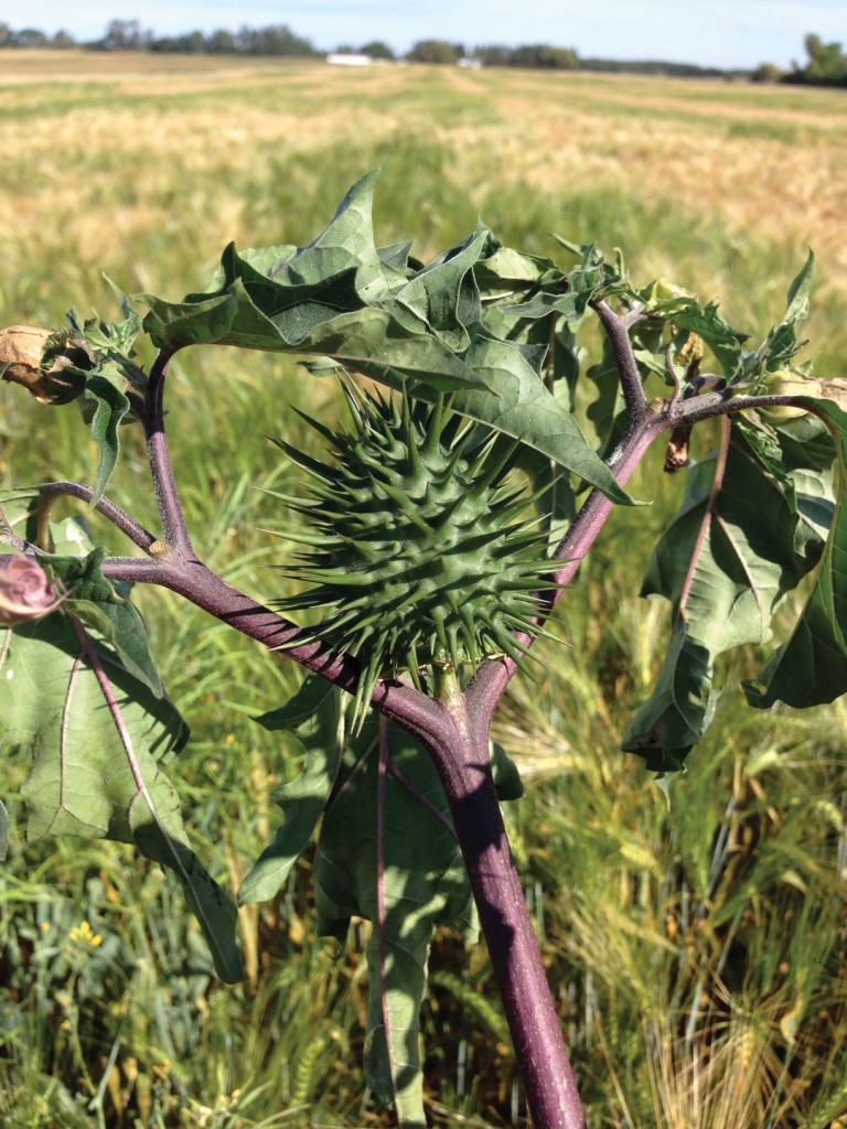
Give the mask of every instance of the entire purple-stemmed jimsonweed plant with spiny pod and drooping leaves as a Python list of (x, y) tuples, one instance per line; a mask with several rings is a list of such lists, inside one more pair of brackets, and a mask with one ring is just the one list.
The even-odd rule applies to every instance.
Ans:
[[(533, 640), (613, 506), (634, 504), (627, 481), (661, 438), (686, 491), (643, 590), (670, 602), (671, 637), (623, 749), (660, 784), (682, 769), (711, 720), (717, 657), (770, 644), (801, 581), (793, 631), (744, 692), (758, 709), (845, 693), (847, 388), (796, 360), (811, 255), (781, 318), (750, 343), (715, 304), (637, 286), (594, 245), (558, 239), (560, 265), (481, 226), (426, 264), (411, 244), (377, 247), (374, 184), (356, 184), (305, 247), (227, 247), (182, 301), (119, 292), (115, 323), (71, 314), (0, 334), (7, 394), (76, 404), (98, 452), (90, 483), (0, 491), (0, 739), (32, 755), (28, 835), (129, 842), (167, 867), (235, 981), (236, 907), (189, 846), (164, 769), (186, 726), (131, 586), (171, 589), (298, 663), (299, 692), (257, 721), (299, 743), (303, 771), (279, 790), (281, 824), (237, 900), (274, 896), (317, 834), (318, 929), (373, 922), (367, 1076), (408, 1127), (426, 1124), (418, 1012), (434, 930), (481, 927), (533, 1122), (578, 1129), (500, 813), (522, 786), (489, 738), (492, 715), (516, 672), (532, 676)], [(290, 520), (267, 606), (198, 558), (165, 432), (169, 362), (219, 345), (295, 355), (315, 379), (337, 374), (347, 403), (339, 423), (307, 418), (322, 457), (273, 440), (302, 484), (268, 501)], [(202, 427), (201, 400), (194, 410)], [(143, 430), (155, 532), (108, 498), (128, 423)], [(689, 437), (707, 423), (713, 449), (695, 461)], [(134, 555), (84, 544), (78, 524), (70, 536), (67, 498)]]

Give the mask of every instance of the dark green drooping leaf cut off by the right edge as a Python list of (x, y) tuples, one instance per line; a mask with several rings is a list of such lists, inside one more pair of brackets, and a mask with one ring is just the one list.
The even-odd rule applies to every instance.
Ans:
[(748, 701), (759, 709), (775, 701), (818, 706), (847, 693), (847, 413), (831, 400), (798, 397), (798, 403), (821, 415), (835, 439), (838, 499), (814, 587), (791, 639), (766, 663), (756, 683), (744, 685)]

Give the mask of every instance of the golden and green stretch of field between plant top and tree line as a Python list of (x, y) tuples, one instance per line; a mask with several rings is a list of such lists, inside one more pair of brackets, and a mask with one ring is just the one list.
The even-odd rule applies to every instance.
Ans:
[[(608, 211), (580, 236), (630, 235), (646, 273), (672, 270), (674, 256), (689, 265), (683, 234), (696, 242), (699, 229), (724, 242), (724, 259), (735, 250), (743, 260), (759, 243), (800, 260), (810, 244), (823, 294), (842, 294), (839, 91), (16, 51), (2, 60), (0, 98), (7, 272), (41, 260), (60, 271), (129, 261), (130, 281), (147, 285), (163, 247), (204, 262), (230, 238), (299, 231), (305, 242), (313, 202), (339, 198), (377, 161), (386, 240), (392, 213), (405, 212), (413, 222), (403, 234), (425, 256), (478, 211), (496, 229), (522, 231), (549, 211), (576, 234), (583, 210), (569, 204), (594, 198)], [(445, 213), (447, 199), (463, 202), (459, 215)], [(660, 230), (652, 246), (640, 217), (664, 220), (660, 229), (675, 221), (679, 238), (664, 246)], [(726, 289), (713, 263), (691, 266), (698, 283)]]

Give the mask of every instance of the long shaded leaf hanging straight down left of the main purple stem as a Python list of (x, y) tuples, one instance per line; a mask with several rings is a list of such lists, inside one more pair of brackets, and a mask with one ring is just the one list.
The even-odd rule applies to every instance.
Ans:
[(401, 1126), (424, 1129), (419, 1012), (434, 930), (475, 931), (446, 802), (426, 752), (377, 721), (348, 743), (315, 859), (318, 929), (343, 937), (350, 917), (373, 921), (367, 949), (369, 1085)]

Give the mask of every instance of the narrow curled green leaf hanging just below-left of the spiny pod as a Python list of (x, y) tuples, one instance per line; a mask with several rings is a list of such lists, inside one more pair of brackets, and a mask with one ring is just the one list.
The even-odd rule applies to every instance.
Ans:
[(273, 898), (315, 832), (343, 751), (339, 694), (325, 679), (309, 675), (288, 704), (256, 718), (267, 729), (291, 733), (289, 743), (303, 754), (304, 765), (274, 795), (285, 821), (242, 883), (241, 905)]

